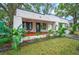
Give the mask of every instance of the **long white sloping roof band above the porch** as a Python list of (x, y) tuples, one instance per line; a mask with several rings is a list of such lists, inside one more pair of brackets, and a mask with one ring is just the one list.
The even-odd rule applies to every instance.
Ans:
[(16, 10), (16, 16), (28, 19), (35, 19), (40, 21), (50, 21), (50, 22), (60, 22), (60, 23), (68, 23), (67, 20), (54, 16), (54, 15), (42, 15), (34, 12), (28, 12), (21, 9)]

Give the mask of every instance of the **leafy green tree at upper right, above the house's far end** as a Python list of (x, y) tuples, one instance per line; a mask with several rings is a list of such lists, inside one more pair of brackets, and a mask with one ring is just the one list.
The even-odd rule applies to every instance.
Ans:
[(77, 23), (77, 19), (79, 19), (79, 4), (77, 3), (61, 3), (55, 9), (56, 15), (58, 16), (72, 16), (74, 24)]

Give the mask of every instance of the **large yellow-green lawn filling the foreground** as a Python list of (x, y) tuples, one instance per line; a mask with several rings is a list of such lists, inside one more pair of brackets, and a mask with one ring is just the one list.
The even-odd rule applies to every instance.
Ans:
[(47, 41), (26, 45), (20, 51), (9, 50), (0, 54), (21, 55), (57, 55), (57, 54), (79, 54), (79, 41), (68, 38), (55, 38)]

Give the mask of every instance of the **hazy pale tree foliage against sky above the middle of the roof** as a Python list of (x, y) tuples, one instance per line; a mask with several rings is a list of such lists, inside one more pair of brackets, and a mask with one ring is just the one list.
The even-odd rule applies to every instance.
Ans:
[(28, 5), (30, 8), (28, 8), (27, 4), (24, 4), (25, 10), (29, 9), (29, 11), (41, 14), (50, 14), (53, 9), (52, 4), (49, 3), (30, 3)]

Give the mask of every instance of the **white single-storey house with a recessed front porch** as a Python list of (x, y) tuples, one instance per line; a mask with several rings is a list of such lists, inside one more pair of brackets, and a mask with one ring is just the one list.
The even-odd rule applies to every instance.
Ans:
[(30, 33), (47, 33), (50, 29), (58, 30), (60, 23), (62, 23), (64, 27), (69, 24), (67, 20), (54, 15), (42, 15), (17, 9), (16, 15), (14, 16), (13, 27), (17, 29), (18, 26), (22, 25), (21, 27)]

